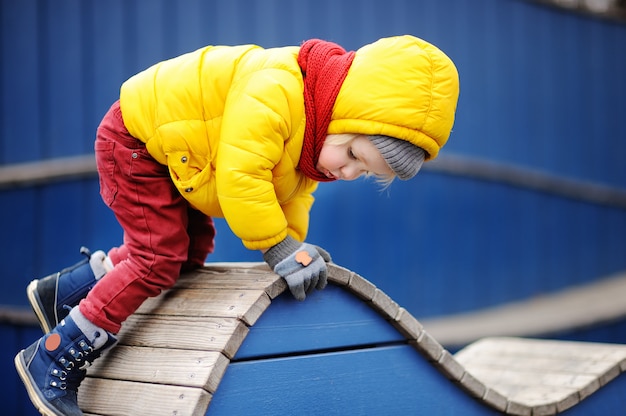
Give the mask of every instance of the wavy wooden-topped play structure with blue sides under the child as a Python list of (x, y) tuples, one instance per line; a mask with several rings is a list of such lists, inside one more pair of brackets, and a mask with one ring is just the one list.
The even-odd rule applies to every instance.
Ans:
[(607, 415), (626, 345), (485, 338), (450, 354), (368, 280), (330, 265), (297, 302), (266, 266), (223, 263), (148, 300), (88, 370), (88, 415)]

